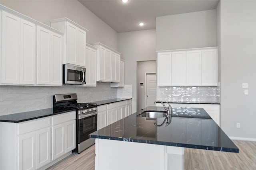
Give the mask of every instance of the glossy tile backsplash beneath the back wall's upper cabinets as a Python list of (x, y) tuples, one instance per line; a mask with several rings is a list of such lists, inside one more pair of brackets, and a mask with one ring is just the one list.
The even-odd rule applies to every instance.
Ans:
[(220, 102), (220, 87), (157, 87), (157, 100), (168, 102)]

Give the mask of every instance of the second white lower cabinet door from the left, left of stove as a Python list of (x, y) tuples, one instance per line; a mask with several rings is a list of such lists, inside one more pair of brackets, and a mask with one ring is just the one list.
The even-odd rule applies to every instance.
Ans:
[(51, 128), (36, 131), (36, 169), (51, 161)]

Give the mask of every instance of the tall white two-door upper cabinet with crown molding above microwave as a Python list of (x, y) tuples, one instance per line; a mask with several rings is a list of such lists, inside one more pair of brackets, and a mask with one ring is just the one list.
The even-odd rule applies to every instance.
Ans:
[(50, 20), (51, 27), (64, 33), (63, 64), (86, 66), (86, 31), (68, 18)]

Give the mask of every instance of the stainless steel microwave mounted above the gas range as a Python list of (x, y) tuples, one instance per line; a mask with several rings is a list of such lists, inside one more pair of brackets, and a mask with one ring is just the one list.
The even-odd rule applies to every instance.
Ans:
[(86, 68), (63, 64), (63, 84), (85, 84)]

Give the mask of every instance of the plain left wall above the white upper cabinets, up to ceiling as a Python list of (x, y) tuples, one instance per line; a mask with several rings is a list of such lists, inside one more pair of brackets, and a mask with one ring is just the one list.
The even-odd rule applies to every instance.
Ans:
[(50, 25), (49, 20), (69, 18), (88, 29), (87, 43), (100, 42), (117, 50), (117, 33), (77, 0), (0, 0), (21, 14)]

